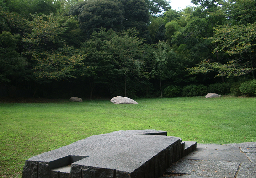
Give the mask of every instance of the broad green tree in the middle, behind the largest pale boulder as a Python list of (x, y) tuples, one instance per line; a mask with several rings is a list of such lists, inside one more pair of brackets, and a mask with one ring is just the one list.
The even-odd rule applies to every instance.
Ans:
[[(96, 86), (108, 85), (112, 93), (126, 96), (130, 80), (138, 82), (147, 76), (144, 69), (143, 40), (137, 37), (135, 29), (117, 33), (101, 28), (94, 31), (82, 46), (87, 53), (83, 65), (78, 69), (83, 80), (89, 80), (92, 91)], [(120, 91), (122, 88), (122, 92)]]

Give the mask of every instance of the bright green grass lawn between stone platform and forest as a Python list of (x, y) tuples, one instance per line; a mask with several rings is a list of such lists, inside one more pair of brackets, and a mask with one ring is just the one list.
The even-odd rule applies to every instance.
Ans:
[(0, 177), (22, 177), (25, 160), (91, 135), (156, 129), (183, 141), (256, 141), (256, 98), (179, 97), (110, 101), (0, 103)]

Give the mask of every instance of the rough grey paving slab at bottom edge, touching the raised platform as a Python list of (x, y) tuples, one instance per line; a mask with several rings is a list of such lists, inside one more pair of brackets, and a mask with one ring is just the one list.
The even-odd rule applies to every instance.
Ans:
[[(188, 174), (201, 177), (234, 178), (240, 162), (180, 159), (167, 168), (165, 174)], [(183, 175), (186, 177), (186, 175)], [(180, 176), (178, 176), (180, 177)]]

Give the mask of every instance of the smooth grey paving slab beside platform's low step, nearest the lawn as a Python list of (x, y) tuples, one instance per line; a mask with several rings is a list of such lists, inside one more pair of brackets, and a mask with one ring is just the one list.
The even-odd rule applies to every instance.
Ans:
[(250, 162), (239, 147), (218, 144), (197, 144), (197, 149), (184, 159)]

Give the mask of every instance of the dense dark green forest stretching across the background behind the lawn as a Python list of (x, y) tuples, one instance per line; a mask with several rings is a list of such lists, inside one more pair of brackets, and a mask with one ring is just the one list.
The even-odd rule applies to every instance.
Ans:
[(256, 95), (256, 1), (0, 0), (0, 97)]

